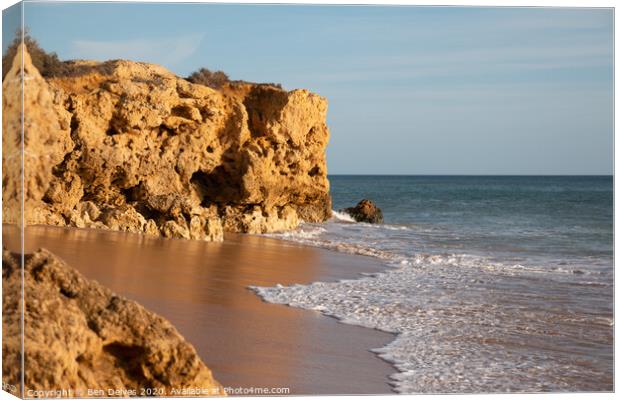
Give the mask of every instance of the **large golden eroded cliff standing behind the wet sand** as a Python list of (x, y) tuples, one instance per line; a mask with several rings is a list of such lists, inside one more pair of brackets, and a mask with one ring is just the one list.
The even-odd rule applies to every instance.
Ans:
[[(72, 70), (46, 80), (24, 51), (27, 224), (219, 240), (330, 217), (322, 97), (257, 84), (214, 90), (123, 60)], [(17, 57), (3, 81), (9, 223), (19, 220), (20, 91)]]

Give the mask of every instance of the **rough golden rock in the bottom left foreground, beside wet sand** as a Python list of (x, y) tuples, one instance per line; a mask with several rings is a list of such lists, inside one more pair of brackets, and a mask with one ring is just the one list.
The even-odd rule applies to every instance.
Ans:
[[(2, 254), (6, 382), (20, 381), (20, 363), (14, 362), (20, 358), (19, 257)], [(33, 390), (56, 397), (45, 391), (71, 389), (90, 397), (88, 389), (100, 389), (105, 396), (112, 390), (126, 397), (133, 390), (140, 395), (142, 388), (168, 396), (175, 395), (173, 389), (196, 388), (224, 394), (194, 348), (164, 318), (87, 280), (46, 250), (26, 255), (24, 277), (27, 395)]]

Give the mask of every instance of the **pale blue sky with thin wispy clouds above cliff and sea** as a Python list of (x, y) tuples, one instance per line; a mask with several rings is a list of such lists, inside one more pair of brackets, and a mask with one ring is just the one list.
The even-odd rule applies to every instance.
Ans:
[(330, 174), (613, 173), (611, 9), (31, 2), (24, 20), (62, 59), (326, 97)]

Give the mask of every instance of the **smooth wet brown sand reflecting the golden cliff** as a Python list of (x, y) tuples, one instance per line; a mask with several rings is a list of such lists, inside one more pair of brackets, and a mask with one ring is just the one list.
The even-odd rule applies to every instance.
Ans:
[[(3, 227), (4, 245), (16, 248), (15, 239)], [(370, 258), (248, 235), (207, 243), (34, 226), (25, 242), (26, 251), (47, 248), (88, 278), (166, 317), (226, 387), (392, 392), (387, 377), (395, 370), (369, 351), (392, 335), (264, 303), (247, 289), (355, 278), (383, 268)]]

